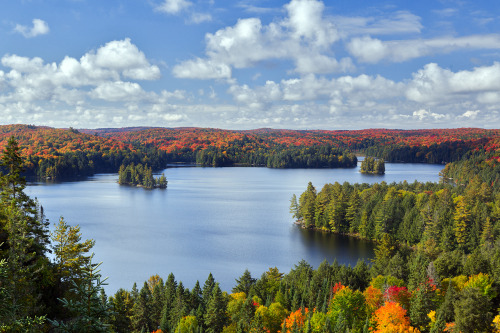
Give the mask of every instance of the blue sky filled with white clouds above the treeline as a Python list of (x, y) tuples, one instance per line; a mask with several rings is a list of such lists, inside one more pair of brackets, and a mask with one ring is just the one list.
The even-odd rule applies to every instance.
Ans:
[(0, 124), (500, 128), (489, 0), (4, 0)]

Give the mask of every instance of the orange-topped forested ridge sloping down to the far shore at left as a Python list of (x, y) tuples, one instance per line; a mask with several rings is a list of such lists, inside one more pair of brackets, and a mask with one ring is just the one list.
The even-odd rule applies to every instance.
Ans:
[(0, 126), (0, 151), (10, 137), (19, 143), (24, 174), (39, 179), (63, 180), (95, 173), (118, 172), (121, 164), (148, 164), (164, 168), (166, 154), (154, 147), (123, 143), (111, 138), (31, 125)]

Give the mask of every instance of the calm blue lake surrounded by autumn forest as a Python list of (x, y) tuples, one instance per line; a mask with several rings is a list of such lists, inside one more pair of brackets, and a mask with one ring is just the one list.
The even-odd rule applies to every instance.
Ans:
[(80, 225), (82, 238), (96, 241), (95, 261), (109, 276), (108, 295), (118, 288), (139, 288), (151, 275), (192, 288), (212, 272), (230, 291), (245, 269), (254, 277), (277, 267), (288, 273), (304, 259), (355, 265), (372, 258), (372, 243), (302, 230), (289, 213), (292, 194), (311, 181), (325, 183), (438, 181), (442, 165), (386, 163), (383, 176), (353, 169), (201, 168), (166, 169), (166, 190), (120, 186), (117, 174), (85, 181), (30, 184), (51, 221), (63, 216)]

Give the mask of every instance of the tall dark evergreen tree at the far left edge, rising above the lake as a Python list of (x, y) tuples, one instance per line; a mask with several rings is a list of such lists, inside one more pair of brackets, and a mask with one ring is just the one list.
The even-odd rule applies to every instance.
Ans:
[(19, 146), (11, 137), (0, 159), (0, 260), (5, 259), (5, 292), (10, 302), (9, 321), (19, 322), (40, 314), (43, 293), (51, 286), (46, 257), (48, 222), (34, 200), (24, 193), (26, 180)]

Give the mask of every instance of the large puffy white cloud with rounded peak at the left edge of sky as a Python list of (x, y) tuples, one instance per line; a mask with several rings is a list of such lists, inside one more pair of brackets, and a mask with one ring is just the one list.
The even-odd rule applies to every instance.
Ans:
[[(159, 68), (151, 65), (129, 39), (109, 42), (79, 60), (65, 57), (59, 64), (18, 55), (3, 56), (1, 64), (10, 69), (4, 74), (4, 84), (10, 87), (10, 95), (3, 98), (11, 100), (64, 100), (65, 94), (77, 96), (85, 92), (74, 92), (74, 88), (109, 85), (122, 79), (154, 80), (160, 77)], [(101, 92), (93, 96), (102, 99), (105, 94)]]

